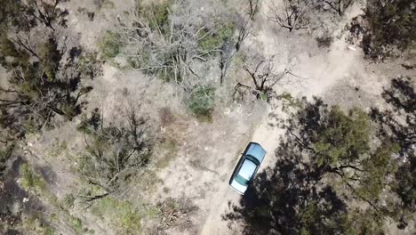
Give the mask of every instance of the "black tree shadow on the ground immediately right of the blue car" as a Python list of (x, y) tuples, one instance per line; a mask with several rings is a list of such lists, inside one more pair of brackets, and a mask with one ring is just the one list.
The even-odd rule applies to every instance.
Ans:
[(318, 170), (302, 162), (295, 140), (282, 142), (275, 154), (276, 165), (256, 175), (240, 206), (229, 203), (223, 220), (229, 226), (243, 222), (243, 234), (334, 234), (331, 224), (347, 212), (346, 205), (319, 182)]

